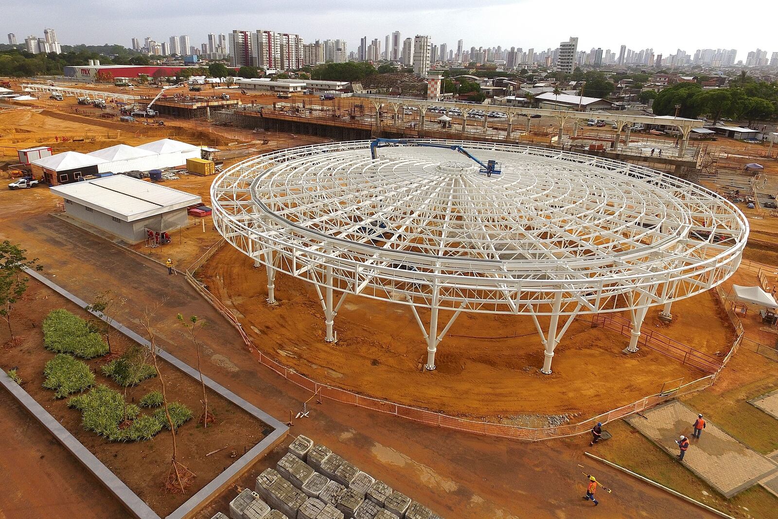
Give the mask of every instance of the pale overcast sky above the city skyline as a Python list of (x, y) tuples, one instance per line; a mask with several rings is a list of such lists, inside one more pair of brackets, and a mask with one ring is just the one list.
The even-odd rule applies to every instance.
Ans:
[[(43, 35), (57, 32), (61, 44), (121, 44), (150, 36), (162, 42), (187, 34), (199, 45), (208, 33), (276, 30), (298, 33), (306, 42), (345, 39), (356, 51), (359, 38), (384, 37), (399, 30), (402, 37), (429, 34), (433, 44), (456, 47), (522, 47), (535, 51), (557, 47), (569, 36), (579, 50), (619, 46), (653, 47), (656, 54), (681, 48), (736, 48), (745, 61), (756, 47), (778, 51), (776, 0), (654, 0), (582, 2), (580, 0), (296, 0), (233, 2), (223, 0), (2, 0), (0, 35)], [(3, 41), (3, 43), (6, 43)], [(383, 49), (382, 49), (383, 50)], [(768, 54), (769, 58), (769, 54)]]

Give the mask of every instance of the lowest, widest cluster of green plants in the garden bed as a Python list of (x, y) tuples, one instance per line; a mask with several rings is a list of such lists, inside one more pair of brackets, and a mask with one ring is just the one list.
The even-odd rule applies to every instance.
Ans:
[[(155, 401), (156, 395), (161, 400), (159, 391), (152, 391), (149, 401)], [(160, 402), (161, 403), (161, 402)], [(119, 391), (100, 384), (89, 393), (75, 396), (68, 405), (81, 411), (81, 423), (84, 429), (93, 431), (110, 441), (142, 441), (151, 440), (159, 431), (169, 429), (165, 409), (157, 409), (150, 415), (142, 415), (135, 404), (128, 404)], [(168, 405), (170, 418), (176, 428), (191, 419), (192, 412), (186, 405), (173, 402)]]

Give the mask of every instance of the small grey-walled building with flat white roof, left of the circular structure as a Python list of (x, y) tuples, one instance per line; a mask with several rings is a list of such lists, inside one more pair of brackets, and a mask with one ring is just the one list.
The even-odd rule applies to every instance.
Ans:
[(65, 213), (130, 244), (149, 231), (166, 233), (187, 225), (187, 208), (202, 198), (125, 175), (59, 185), (51, 191), (65, 199)]

